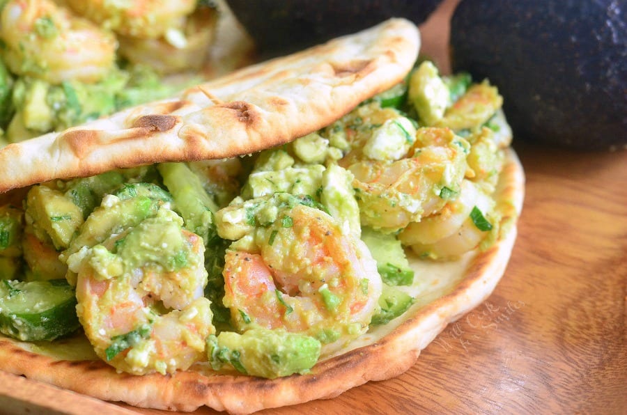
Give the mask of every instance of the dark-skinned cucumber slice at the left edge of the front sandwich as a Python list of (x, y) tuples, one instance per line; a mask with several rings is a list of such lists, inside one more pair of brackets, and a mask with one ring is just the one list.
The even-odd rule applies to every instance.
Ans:
[(0, 281), (0, 333), (54, 340), (80, 327), (75, 290), (65, 280)]

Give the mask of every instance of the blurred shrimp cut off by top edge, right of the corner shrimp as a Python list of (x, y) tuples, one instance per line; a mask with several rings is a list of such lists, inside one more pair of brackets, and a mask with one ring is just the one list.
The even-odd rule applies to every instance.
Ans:
[(158, 38), (179, 29), (196, 8), (196, 0), (66, 0), (82, 15), (116, 33), (137, 38)]

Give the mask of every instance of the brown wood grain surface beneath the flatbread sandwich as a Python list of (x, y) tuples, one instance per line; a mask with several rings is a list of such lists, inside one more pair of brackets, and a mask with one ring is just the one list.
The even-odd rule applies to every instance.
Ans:
[[(447, 1), (444, 13), (454, 3)], [(426, 51), (446, 68), (447, 39), (433, 33), (446, 22), (424, 29)], [(449, 325), (403, 375), (260, 414), (627, 414), (627, 151), (522, 141), (514, 148), (527, 175), (526, 198), (493, 295)], [(0, 372), (0, 413), (118, 410), (169, 414)]]

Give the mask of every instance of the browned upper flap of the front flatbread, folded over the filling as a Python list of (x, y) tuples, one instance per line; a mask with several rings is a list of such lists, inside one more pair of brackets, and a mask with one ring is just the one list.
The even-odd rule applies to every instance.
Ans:
[(316, 131), (403, 79), (419, 32), (390, 19), (178, 97), (0, 149), (0, 193), (156, 162), (233, 157)]

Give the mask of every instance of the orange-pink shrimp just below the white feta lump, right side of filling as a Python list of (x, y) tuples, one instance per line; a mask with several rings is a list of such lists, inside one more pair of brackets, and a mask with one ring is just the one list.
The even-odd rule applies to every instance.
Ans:
[(470, 145), (447, 128), (419, 128), (403, 157), (369, 159), (353, 150), (339, 164), (355, 175), (362, 226), (396, 231), (440, 210), (458, 189)]

